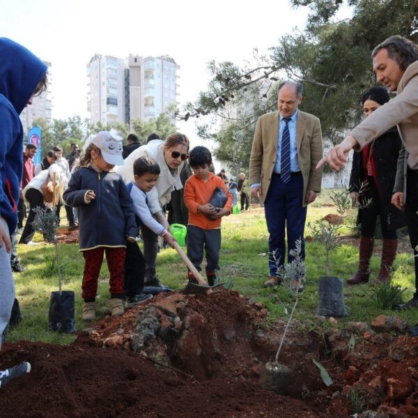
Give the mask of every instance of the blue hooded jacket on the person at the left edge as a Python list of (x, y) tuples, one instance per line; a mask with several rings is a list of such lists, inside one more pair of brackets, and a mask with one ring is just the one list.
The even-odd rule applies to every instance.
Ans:
[(10, 234), (17, 225), (23, 171), (23, 127), (19, 115), (47, 66), (22, 45), (0, 38), (0, 216)]

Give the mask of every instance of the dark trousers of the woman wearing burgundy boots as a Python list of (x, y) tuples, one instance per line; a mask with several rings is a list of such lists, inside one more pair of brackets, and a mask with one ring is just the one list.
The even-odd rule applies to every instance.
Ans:
[[(362, 235), (364, 237), (373, 238), (375, 235), (376, 221), (380, 216), (380, 229), (382, 230), (382, 237), (389, 240), (396, 240), (398, 235), (396, 229), (390, 230), (387, 224), (387, 220), (382, 216), (382, 203), (376, 184), (374, 183), (373, 177), (368, 178), (369, 185), (364, 199), (371, 199), (371, 205), (366, 208), (360, 209), (362, 211)], [(362, 199), (362, 200), (364, 200)]]

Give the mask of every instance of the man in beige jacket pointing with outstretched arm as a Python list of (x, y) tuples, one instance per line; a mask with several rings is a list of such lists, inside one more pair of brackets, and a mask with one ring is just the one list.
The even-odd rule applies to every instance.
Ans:
[[(404, 307), (418, 307), (418, 46), (402, 36), (391, 36), (371, 53), (378, 82), (396, 91), (396, 98), (376, 109), (357, 125), (341, 144), (319, 162), (339, 170), (351, 148), (361, 150), (389, 127), (398, 125), (403, 148), (399, 152), (392, 203), (405, 210), (410, 242), (415, 254), (415, 287)], [(407, 194), (408, 191), (408, 194)], [(415, 327), (417, 328), (417, 327)], [(418, 329), (416, 330), (418, 332)]]

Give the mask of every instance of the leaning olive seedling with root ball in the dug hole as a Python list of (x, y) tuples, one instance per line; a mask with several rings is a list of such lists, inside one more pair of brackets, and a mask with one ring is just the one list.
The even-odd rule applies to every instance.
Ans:
[(274, 362), (268, 362), (265, 364), (265, 387), (266, 389), (271, 390), (272, 392), (275, 392), (279, 395), (286, 394), (288, 382), (291, 377), (291, 369), (279, 362), (279, 356), (283, 343), (286, 339), (286, 332), (288, 331), (288, 327), (291, 324), (293, 314), (295, 313), (297, 302), (299, 302), (300, 288), (302, 288), (304, 284), (305, 275), (307, 273), (301, 252), (302, 242), (301, 240), (297, 240), (295, 242), (295, 249), (289, 251), (291, 256), (293, 256), (293, 261), (281, 266), (278, 266), (279, 260), (277, 260), (275, 254), (270, 254), (278, 266), (277, 276), (281, 277), (281, 280), (286, 286), (286, 291), (288, 291), (288, 293), (290, 293), (295, 298), (291, 314), (289, 315), (288, 322), (286, 323), (283, 334), (281, 336), (276, 357), (274, 357)]

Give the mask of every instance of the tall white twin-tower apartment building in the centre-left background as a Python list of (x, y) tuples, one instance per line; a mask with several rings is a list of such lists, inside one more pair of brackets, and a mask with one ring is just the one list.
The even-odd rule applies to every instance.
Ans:
[(177, 98), (180, 65), (169, 56), (130, 55), (124, 62), (95, 55), (87, 65), (92, 122), (157, 118)]

